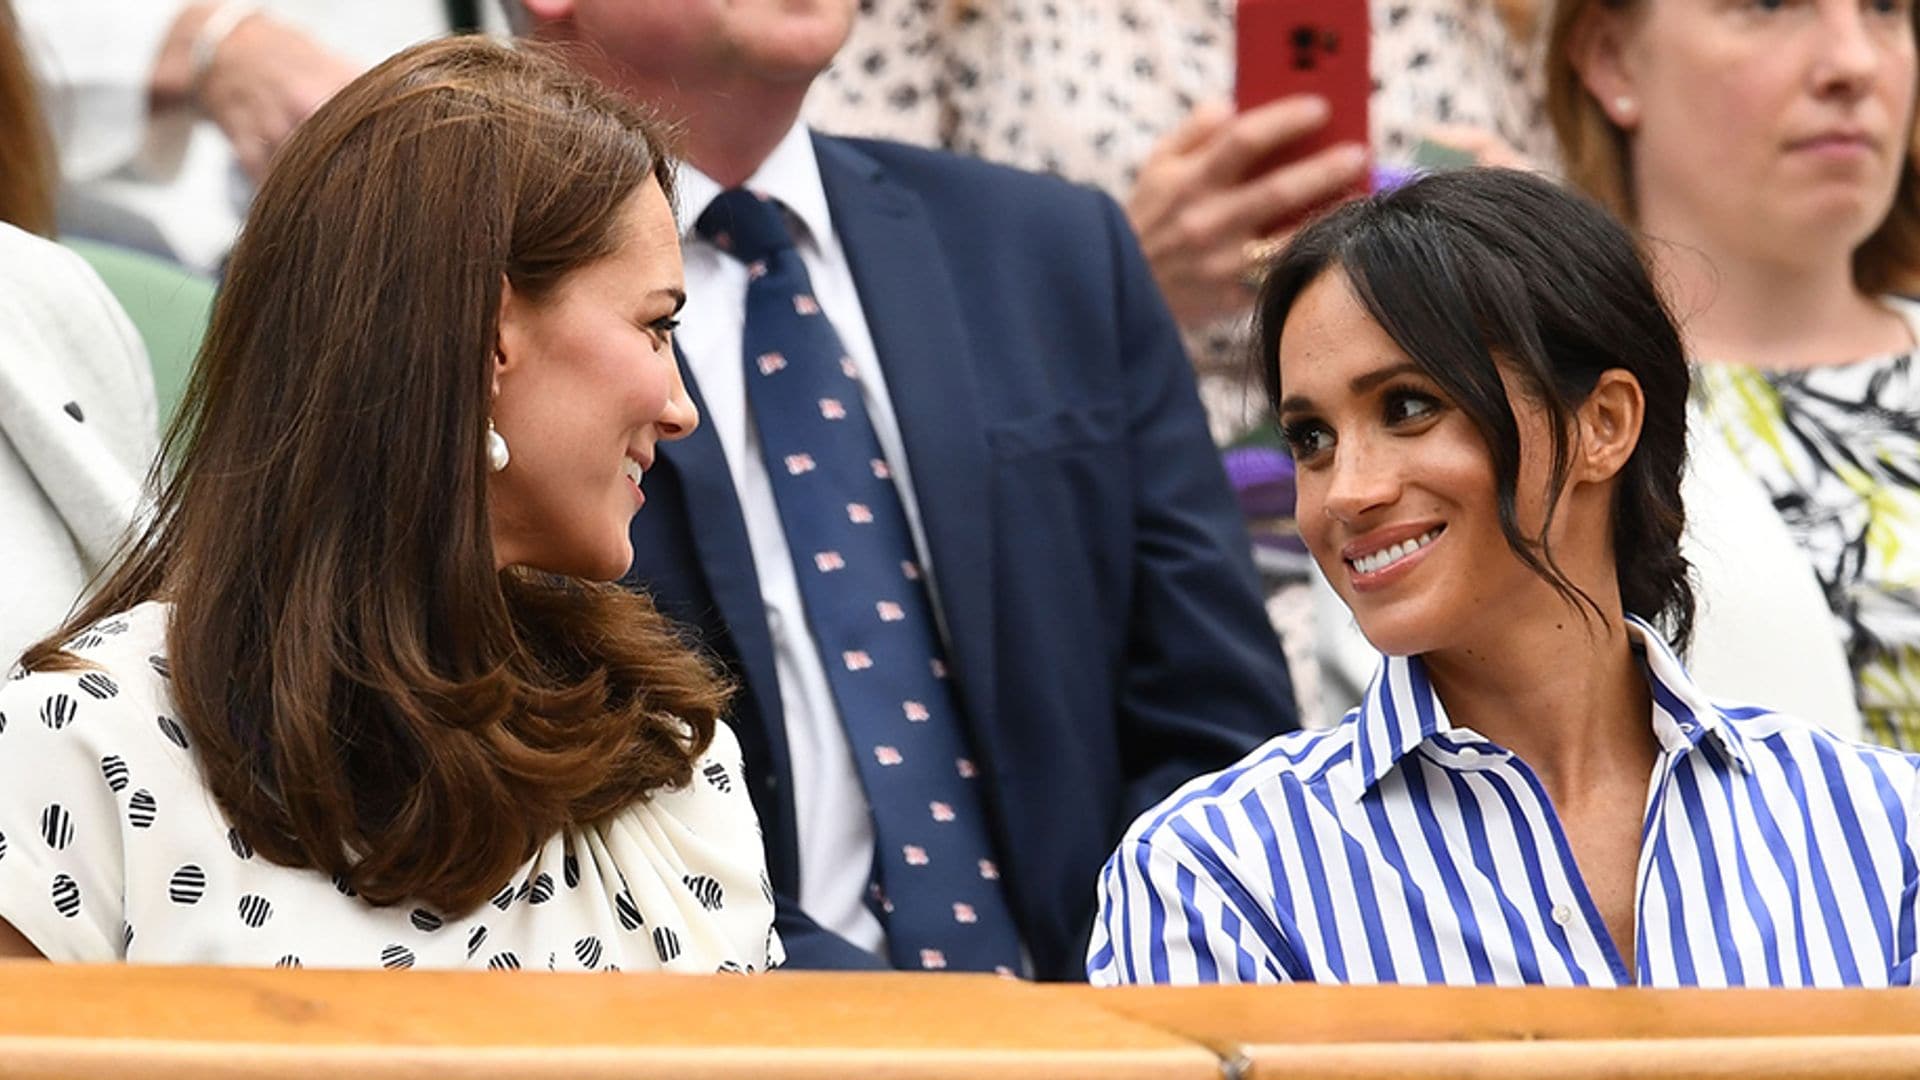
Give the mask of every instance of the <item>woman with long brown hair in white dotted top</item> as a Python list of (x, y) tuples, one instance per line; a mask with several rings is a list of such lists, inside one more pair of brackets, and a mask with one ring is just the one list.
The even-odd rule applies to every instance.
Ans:
[(722, 680), (607, 582), (697, 423), (651, 121), (409, 50), (282, 150), (150, 527), (0, 686), (0, 953), (753, 970)]

